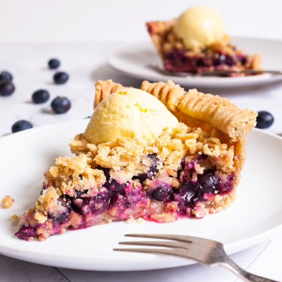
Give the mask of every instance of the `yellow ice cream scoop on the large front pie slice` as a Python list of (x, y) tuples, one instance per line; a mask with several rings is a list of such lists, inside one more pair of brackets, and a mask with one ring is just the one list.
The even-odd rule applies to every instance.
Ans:
[(128, 88), (109, 95), (98, 105), (85, 137), (96, 145), (122, 137), (149, 140), (177, 124), (177, 118), (156, 97)]

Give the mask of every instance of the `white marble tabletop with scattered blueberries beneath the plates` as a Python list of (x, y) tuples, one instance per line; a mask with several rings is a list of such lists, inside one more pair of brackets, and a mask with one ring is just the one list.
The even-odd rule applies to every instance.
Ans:
[[(34, 126), (84, 118), (92, 113), (94, 82), (113, 78), (124, 85), (139, 86), (138, 79), (128, 78), (106, 64), (107, 55), (126, 43), (100, 42), (89, 44), (2, 44), (0, 68), (14, 75), (16, 91), (8, 97), (0, 96), (0, 136), (10, 134), (11, 126), (19, 119), (30, 120)], [(61, 70), (70, 74), (66, 85), (54, 85), (54, 71), (47, 68), (50, 57), (61, 59)], [(72, 107), (66, 114), (55, 115), (50, 110), (51, 99), (41, 105), (31, 103), (32, 93), (39, 89), (55, 96), (67, 96)], [(275, 124), (270, 132), (282, 132), (282, 84), (244, 89), (199, 89), (203, 92), (224, 95), (240, 107), (270, 111)], [(282, 280), (282, 234), (243, 252), (232, 255), (235, 262), (256, 274)], [(235, 281), (236, 277), (218, 267), (204, 266), (138, 272), (93, 272), (58, 269), (26, 263), (0, 255), (0, 281)]]

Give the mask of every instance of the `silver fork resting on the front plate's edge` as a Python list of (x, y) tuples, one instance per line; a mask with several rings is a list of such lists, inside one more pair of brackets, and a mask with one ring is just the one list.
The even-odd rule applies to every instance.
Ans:
[(137, 252), (137, 253), (156, 253), (176, 255), (196, 260), (205, 266), (223, 266), (244, 281), (256, 282), (277, 282), (268, 278), (254, 275), (243, 268), (237, 266), (233, 260), (224, 251), (223, 244), (204, 238), (184, 236), (184, 235), (163, 235), (163, 234), (127, 234), (127, 237), (142, 237), (167, 239), (170, 241), (127, 241), (119, 242), (120, 245), (138, 245), (138, 246), (154, 246), (166, 247), (161, 248), (131, 248), (131, 249), (114, 249), (114, 251)]

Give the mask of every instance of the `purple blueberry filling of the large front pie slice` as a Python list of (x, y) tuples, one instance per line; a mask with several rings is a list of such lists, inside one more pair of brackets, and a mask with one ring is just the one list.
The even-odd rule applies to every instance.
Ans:
[[(150, 162), (148, 171), (137, 175), (135, 178), (143, 179), (144, 177), (145, 180), (147, 178), (152, 179), (156, 175), (160, 160), (156, 154), (150, 154), (147, 158)], [(206, 162), (207, 158), (207, 155), (200, 154), (189, 162), (183, 160), (181, 168), (177, 171), (181, 183), (178, 188), (172, 188), (169, 182), (162, 182), (161, 179), (153, 179), (151, 188), (148, 190), (144, 189), (142, 182), (137, 186), (132, 185), (132, 182), (119, 183), (118, 180), (110, 177), (110, 169), (98, 166), (97, 169), (102, 170), (106, 177), (104, 189), (100, 189), (95, 196), (87, 196), (87, 189), (75, 191), (76, 194), (73, 196), (62, 195), (58, 199), (61, 204), (59, 211), (48, 213), (49, 223), (52, 224), (52, 234), (62, 232), (59, 228), (68, 221), (71, 229), (86, 228), (101, 223), (100, 218), (103, 218), (104, 215), (100, 216), (100, 214), (104, 212), (109, 213), (114, 220), (128, 219), (132, 216), (134, 218), (141, 216), (151, 220), (150, 216), (159, 212), (154, 208), (162, 207), (162, 205), (157, 204), (158, 202), (163, 202), (164, 210), (173, 202), (170, 207), (173, 207), (173, 212), (176, 215), (192, 216), (191, 209), (199, 202), (206, 202), (209, 198), (208, 194), (224, 195), (233, 189), (234, 172), (221, 175), (215, 170), (209, 169), (205, 170), (203, 174), (196, 173), (195, 166), (201, 162)], [(79, 178), (82, 179), (82, 175), (79, 175)], [(150, 206), (151, 203), (152, 206)], [(70, 221), (72, 213), (78, 213), (82, 218), (78, 227), (72, 227), (72, 221)], [(16, 236), (29, 240), (31, 237), (39, 236), (39, 233), (36, 233), (39, 227), (50, 230), (46, 224), (35, 224), (22, 227), (16, 233)]]

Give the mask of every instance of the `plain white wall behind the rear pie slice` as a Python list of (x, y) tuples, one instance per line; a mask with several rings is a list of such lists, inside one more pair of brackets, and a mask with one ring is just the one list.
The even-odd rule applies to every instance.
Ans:
[(1, 0), (0, 42), (135, 41), (144, 23), (211, 5), (231, 35), (282, 38), (281, 0)]

